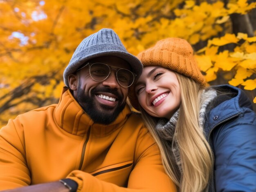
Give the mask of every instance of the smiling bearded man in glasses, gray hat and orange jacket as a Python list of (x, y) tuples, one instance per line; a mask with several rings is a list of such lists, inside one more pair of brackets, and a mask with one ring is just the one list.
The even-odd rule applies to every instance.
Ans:
[(175, 191), (155, 142), (126, 104), (141, 71), (111, 29), (85, 38), (64, 71), (59, 103), (0, 129), (0, 190)]

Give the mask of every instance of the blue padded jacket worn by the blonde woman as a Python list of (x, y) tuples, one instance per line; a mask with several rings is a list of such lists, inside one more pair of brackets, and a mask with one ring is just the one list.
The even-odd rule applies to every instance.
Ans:
[(256, 114), (252, 103), (239, 88), (213, 88), (235, 95), (217, 97), (207, 113), (205, 133), (214, 154), (209, 191), (256, 192)]

